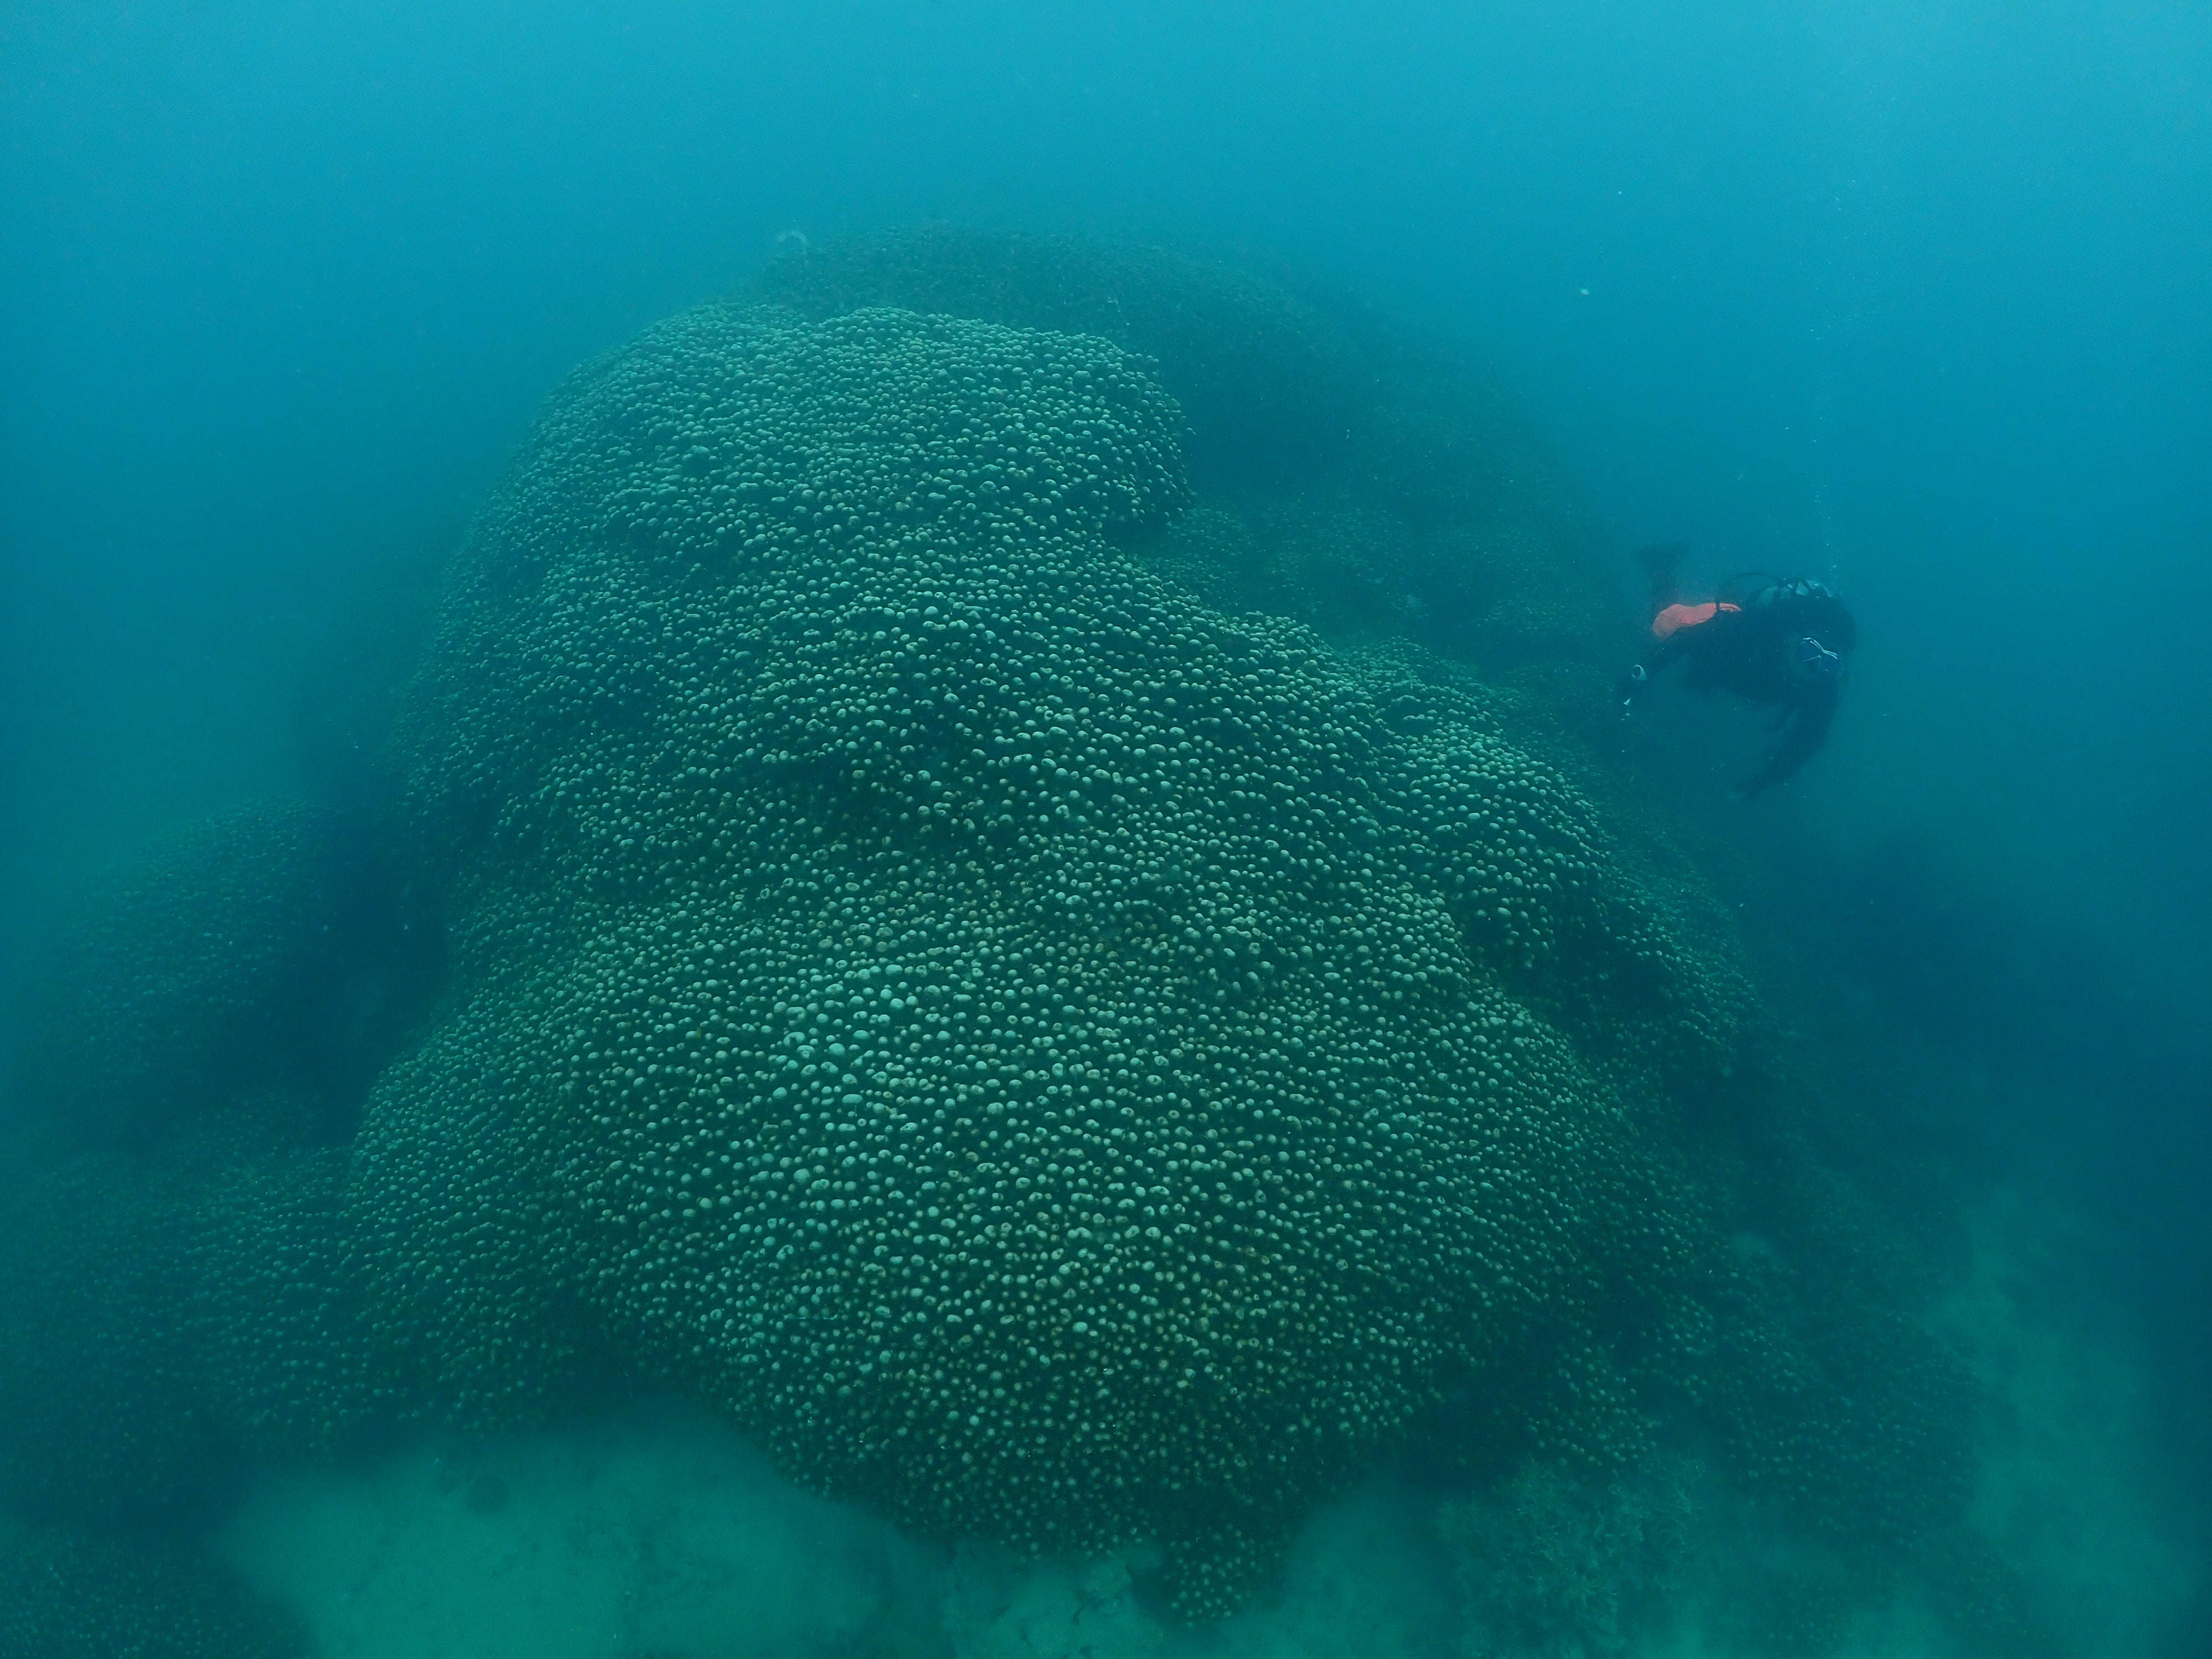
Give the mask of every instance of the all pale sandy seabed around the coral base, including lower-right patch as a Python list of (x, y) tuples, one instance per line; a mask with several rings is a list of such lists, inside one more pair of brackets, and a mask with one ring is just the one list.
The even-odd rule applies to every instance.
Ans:
[[(2146, 1498), (2130, 1356), (2037, 1305), (2059, 1232), (2035, 1206), (1991, 1206), (1971, 1283), (1938, 1321), (2004, 1402), (1982, 1531), (2068, 1652), (2135, 1659), (2203, 1568)], [(661, 1409), (274, 1475), (219, 1548), (307, 1621), (321, 1659), (1725, 1659), (1743, 1650), (1745, 1584), (1792, 1548), (1721, 1495), (1659, 1586), (1663, 1632), (1562, 1617), (1526, 1648), (1486, 1635), (1498, 1608), (1480, 1571), (1447, 1559), (1433, 1502), (1378, 1482), (1323, 1506), (1274, 1590), (1183, 1630), (1141, 1604), (1141, 1553), (1022, 1564), (918, 1544), (792, 1486), (706, 1413)], [(1524, 1520), (1502, 1495), (1478, 1502)], [(1838, 1659), (1949, 1659), (1949, 1644), (1874, 1599)]]

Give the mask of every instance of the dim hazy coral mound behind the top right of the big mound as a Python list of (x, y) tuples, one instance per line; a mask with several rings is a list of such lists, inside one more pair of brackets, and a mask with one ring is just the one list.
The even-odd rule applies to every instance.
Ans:
[(1601, 538), (1520, 400), (1356, 301), (1135, 239), (951, 223), (790, 248), (752, 292), (816, 321), (900, 305), (1150, 358), (1208, 509), (1155, 568), (1217, 608), (1418, 639), (1546, 699), (1564, 666), (1628, 648)]

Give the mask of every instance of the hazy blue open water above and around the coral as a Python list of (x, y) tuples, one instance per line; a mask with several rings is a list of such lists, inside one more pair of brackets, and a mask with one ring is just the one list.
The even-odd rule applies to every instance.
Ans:
[(2079, 1201), (2064, 1294), (2141, 1356), (2197, 1537), (2201, 7), (9, 4), (9, 958), (292, 781), (334, 617), (573, 363), (779, 234), (922, 217), (1256, 250), (1500, 363), (1624, 551), (1843, 588), (1845, 717), (1759, 812), (1845, 978)]

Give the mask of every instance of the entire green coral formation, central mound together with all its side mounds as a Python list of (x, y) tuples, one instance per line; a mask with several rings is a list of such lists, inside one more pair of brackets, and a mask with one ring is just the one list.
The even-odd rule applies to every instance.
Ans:
[(551, 400), (392, 699), (405, 860), (259, 807), (66, 936), (0, 1506), (644, 1387), (1192, 1615), (1407, 1440), (1955, 1531), (1973, 1405), (1593, 805), (1606, 584), (1480, 378), (1073, 239), (765, 285)]

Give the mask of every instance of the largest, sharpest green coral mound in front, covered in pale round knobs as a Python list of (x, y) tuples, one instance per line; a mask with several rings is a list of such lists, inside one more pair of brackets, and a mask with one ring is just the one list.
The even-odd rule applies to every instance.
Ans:
[(1725, 995), (1467, 697), (1128, 549), (1091, 336), (714, 305), (580, 372), (407, 730), (451, 1015), (349, 1203), (453, 1398), (613, 1332), (803, 1480), (1190, 1608), (1606, 1241)]

